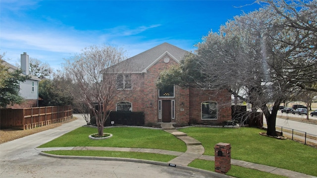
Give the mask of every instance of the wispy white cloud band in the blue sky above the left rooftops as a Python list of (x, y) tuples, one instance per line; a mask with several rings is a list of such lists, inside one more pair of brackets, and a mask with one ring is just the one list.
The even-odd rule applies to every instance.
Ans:
[[(36, 6), (37, 4), (34, 3)], [(21, 8), (15, 7), (14, 11)], [(2, 13), (2, 12), (1, 12)], [(162, 26), (117, 26), (100, 31), (80, 31), (62, 24), (51, 17), (47, 21), (28, 21), (1, 17), (0, 50), (7, 52), (6, 59), (11, 64), (19, 64), (20, 54), (27, 52), (30, 57), (47, 62), (54, 69), (60, 69), (64, 58), (69, 58), (89, 45), (115, 45), (127, 51), (132, 57), (151, 47), (168, 42), (168, 39), (153, 39), (144, 42), (143, 32)], [(168, 42), (170, 43), (170, 42)], [(177, 43), (171, 43), (178, 45)], [(179, 46), (181, 47), (181, 46)]]

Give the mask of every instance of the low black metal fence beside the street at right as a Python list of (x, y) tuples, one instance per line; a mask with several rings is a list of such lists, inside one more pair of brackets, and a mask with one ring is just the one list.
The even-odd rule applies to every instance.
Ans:
[(317, 135), (281, 126), (275, 126), (275, 128), (276, 131), (283, 133), (283, 136), (286, 136), (288, 139), (317, 148)]

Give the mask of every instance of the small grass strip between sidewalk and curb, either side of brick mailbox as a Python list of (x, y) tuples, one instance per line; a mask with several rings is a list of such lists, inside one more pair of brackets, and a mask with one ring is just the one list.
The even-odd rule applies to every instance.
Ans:
[[(188, 166), (214, 172), (214, 161), (196, 159)], [(226, 175), (236, 178), (287, 178), (284, 176), (274, 175), (234, 165), (231, 165), (231, 169), (228, 171), (228, 173), (226, 173)]]

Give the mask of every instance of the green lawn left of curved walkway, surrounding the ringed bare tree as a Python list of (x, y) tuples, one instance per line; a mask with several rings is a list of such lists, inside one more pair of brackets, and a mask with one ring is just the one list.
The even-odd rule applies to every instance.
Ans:
[(97, 133), (96, 128), (81, 127), (39, 147), (108, 146), (155, 148), (180, 152), (187, 150), (186, 144), (183, 141), (162, 130), (129, 127), (107, 128), (104, 130), (104, 133), (112, 134), (111, 138), (92, 140), (88, 137), (88, 135), (95, 133)]

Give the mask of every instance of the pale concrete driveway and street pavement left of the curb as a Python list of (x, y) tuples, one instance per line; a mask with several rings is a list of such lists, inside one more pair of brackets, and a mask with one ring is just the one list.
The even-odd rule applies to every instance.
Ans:
[[(1, 178), (211, 178), (203, 173), (145, 163), (60, 159), (39, 155), (35, 149), (82, 125), (84, 119), (0, 144)], [(221, 178), (221, 176), (219, 176)]]

